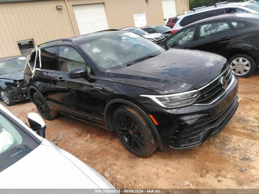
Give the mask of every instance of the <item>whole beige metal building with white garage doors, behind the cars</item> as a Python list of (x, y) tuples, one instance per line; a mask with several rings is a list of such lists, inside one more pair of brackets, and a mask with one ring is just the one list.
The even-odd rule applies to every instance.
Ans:
[(26, 56), (42, 42), (105, 29), (162, 25), (189, 10), (189, 0), (0, 0), (0, 58)]

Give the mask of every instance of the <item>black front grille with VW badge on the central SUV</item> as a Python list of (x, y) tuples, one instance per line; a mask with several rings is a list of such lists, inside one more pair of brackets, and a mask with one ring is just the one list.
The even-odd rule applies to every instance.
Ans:
[[(227, 85), (229, 85), (231, 82), (231, 77), (232, 77), (232, 73), (231, 73), (230, 69), (227, 70), (225, 73), (223, 73), (222, 77), (226, 78)], [(219, 82), (219, 79), (216, 79), (214, 82), (212, 82), (207, 87), (199, 90), (201, 97), (195, 103), (199, 103), (199, 104), (210, 103), (224, 91), (225, 91), (225, 89), (222, 88), (222, 85)]]

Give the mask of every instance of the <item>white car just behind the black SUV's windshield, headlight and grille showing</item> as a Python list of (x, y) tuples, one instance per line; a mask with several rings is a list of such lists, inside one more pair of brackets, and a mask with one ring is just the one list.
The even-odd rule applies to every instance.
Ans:
[(136, 27), (128, 27), (128, 28), (121, 28), (119, 30), (126, 30), (129, 32), (134, 32), (136, 34), (138, 34), (139, 36), (143, 36), (147, 39), (150, 39), (152, 41), (154, 41), (155, 43), (159, 44), (162, 41), (164, 41), (166, 38), (161, 34), (161, 33), (148, 33), (140, 28), (136, 28)]

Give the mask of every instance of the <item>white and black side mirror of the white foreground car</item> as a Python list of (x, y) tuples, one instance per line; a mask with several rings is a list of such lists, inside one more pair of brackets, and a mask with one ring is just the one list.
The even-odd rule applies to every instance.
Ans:
[(29, 112), (27, 119), (33, 131), (36, 131), (36, 134), (45, 138), (46, 125), (43, 119), (36, 112)]

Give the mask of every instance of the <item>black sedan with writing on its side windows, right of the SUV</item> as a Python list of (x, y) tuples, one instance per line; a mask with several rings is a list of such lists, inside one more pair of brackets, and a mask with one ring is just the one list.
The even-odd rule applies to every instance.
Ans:
[(226, 57), (237, 77), (259, 67), (259, 14), (233, 13), (194, 22), (168, 37), (166, 48), (187, 48)]

